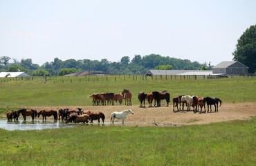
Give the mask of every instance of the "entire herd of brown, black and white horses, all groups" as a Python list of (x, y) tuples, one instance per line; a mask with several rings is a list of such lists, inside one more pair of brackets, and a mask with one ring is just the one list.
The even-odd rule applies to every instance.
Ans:
[[(92, 95), (89, 95), (90, 98), (93, 98), (93, 105), (114, 105), (115, 102), (119, 102), (119, 104), (122, 104), (122, 100), (125, 100), (125, 105), (129, 106), (131, 105), (131, 97), (132, 93), (128, 89), (124, 89), (121, 93), (93, 93)], [(140, 107), (145, 107), (145, 101), (149, 103), (149, 107), (153, 107), (152, 103), (154, 102), (154, 107), (161, 107), (161, 105), (165, 104), (166, 106), (169, 106), (170, 103), (170, 93), (168, 91), (152, 91), (149, 93), (139, 92), (138, 93), (138, 100), (140, 101)], [(162, 104), (161, 104), (162, 102)], [(191, 107), (193, 107), (193, 111), (199, 111), (199, 107), (205, 110), (205, 105), (208, 106), (209, 112), (209, 106), (210, 111), (212, 112), (212, 105), (215, 107), (215, 112), (219, 111), (219, 106), (221, 106), (222, 101), (219, 98), (210, 98), (210, 97), (198, 97), (196, 95), (179, 95), (177, 97), (172, 98), (173, 102), (173, 111), (175, 112), (175, 108), (177, 111), (183, 111), (184, 105), (187, 107), (187, 111), (191, 110)], [(220, 105), (219, 105), (220, 104)], [(182, 107), (181, 107), (182, 106)], [(200, 111), (200, 112), (201, 112)], [(110, 115), (111, 122), (113, 123), (114, 120), (122, 119), (122, 124), (124, 123), (125, 117), (129, 114), (134, 114), (131, 109), (124, 110), (121, 112), (113, 112)], [(93, 120), (98, 120), (100, 122), (100, 119), (104, 123), (104, 113), (98, 111), (98, 112), (91, 112), (89, 110), (83, 110), (81, 108), (75, 108), (75, 109), (67, 109), (62, 108), (58, 111), (56, 110), (46, 110), (42, 109), (37, 113), (35, 109), (19, 109), (17, 111), (9, 111), (6, 114), (6, 117), (8, 121), (18, 120), (20, 114), (23, 116), (24, 120), (26, 120), (27, 116), (31, 116), (32, 120), (34, 120), (36, 117), (39, 118), (39, 116), (42, 115), (43, 122), (46, 121), (46, 117), (53, 116), (54, 120), (62, 120), (62, 122), (93, 122)]]

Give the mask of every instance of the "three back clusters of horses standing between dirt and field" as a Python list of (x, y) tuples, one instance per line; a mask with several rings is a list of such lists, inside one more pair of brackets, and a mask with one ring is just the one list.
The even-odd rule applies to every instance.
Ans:
[[(131, 91), (124, 89), (122, 93), (93, 93), (89, 97), (93, 98), (93, 105), (114, 105), (115, 102), (119, 101), (119, 104), (122, 104), (122, 100), (125, 99), (125, 104), (131, 105)], [(161, 107), (161, 105), (169, 106), (170, 103), (170, 93), (168, 91), (151, 91), (149, 93), (139, 92), (138, 100), (140, 102), (140, 107), (145, 107), (145, 101), (149, 103), (149, 107)], [(107, 102), (106, 102), (107, 101)], [(210, 97), (198, 97), (196, 95), (179, 95), (177, 97), (172, 98), (173, 102), (173, 111), (175, 107), (178, 111), (184, 111), (184, 104), (186, 104), (187, 110), (190, 110), (193, 107), (193, 111), (199, 111), (199, 107), (204, 108), (205, 104), (209, 106), (210, 111), (212, 111), (212, 105), (214, 105), (215, 112), (219, 109), (219, 103), (221, 106), (221, 100), (219, 98), (210, 98)], [(162, 104), (161, 104), (162, 103)], [(179, 105), (179, 107), (178, 107)], [(182, 109), (181, 109), (182, 105)], [(200, 111), (200, 112), (201, 112)], [(206, 111), (205, 111), (206, 112)]]

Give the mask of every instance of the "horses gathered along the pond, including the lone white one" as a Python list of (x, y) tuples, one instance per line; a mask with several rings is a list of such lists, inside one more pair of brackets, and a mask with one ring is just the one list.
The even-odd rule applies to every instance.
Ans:
[[(115, 112), (111, 113), (111, 115), (110, 115), (111, 122), (114, 123), (114, 119), (117, 118), (117, 119), (122, 119), (122, 124), (124, 124), (125, 117), (129, 113), (134, 114), (134, 112), (131, 111), (131, 109), (120, 111), (120, 112), (115, 111)], [(19, 120), (20, 114), (23, 116), (24, 120), (26, 120), (27, 116), (31, 116), (32, 120), (34, 120), (35, 117), (39, 118), (39, 116), (42, 115), (43, 122), (46, 121), (46, 117), (50, 117), (50, 116), (53, 116), (54, 121), (61, 120), (62, 122), (66, 122), (66, 123), (68, 123), (68, 122), (74, 122), (74, 123), (91, 122), (91, 123), (93, 123), (93, 120), (98, 120), (98, 122), (100, 122), (100, 119), (104, 123), (104, 120), (105, 120), (104, 113), (102, 113), (100, 111), (94, 113), (89, 110), (84, 110), (81, 108), (75, 108), (75, 109), (62, 108), (62, 109), (59, 109), (58, 111), (42, 109), (38, 113), (35, 109), (27, 110), (27, 109), (23, 108), (23, 109), (19, 109), (17, 111), (9, 111), (6, 114), (6, 117), (7, 117), (8, 121), (12, 121), (12, 119)]]

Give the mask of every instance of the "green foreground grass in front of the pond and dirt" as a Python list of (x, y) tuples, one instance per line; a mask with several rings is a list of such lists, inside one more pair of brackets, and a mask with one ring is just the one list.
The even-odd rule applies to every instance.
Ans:
[(1, 165), (255, 165), (256, 118), (186, 127), (0, 129)]

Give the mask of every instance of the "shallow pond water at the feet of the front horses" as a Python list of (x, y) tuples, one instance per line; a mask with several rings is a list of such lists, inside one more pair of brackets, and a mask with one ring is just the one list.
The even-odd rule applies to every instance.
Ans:
[[(82, 123), (79, 123), (82, 124)], [(105, 122), (104, 124), (93, 122), (93, 124), (84, 124), (84, 125), (110, 125), (110, 122)], [(115, 122), (114, 125), (122, 125), (121, 122)], [(125, 126), (148, 126), (149, 124), (135, 124), (131, 122), (126, 122)], [(34, 120), (34, 121), (7, 121), (7, 120), (0, 120), (0, 129), (6, 130), (41, 130), (41, 129), (57, 129), (57, 128), (66, 128), (66, 127), (76, 127), (77, 124), (65, 122), (53, 122), (53, 121), (46, 121), (42, 122), (42, 120)]]

